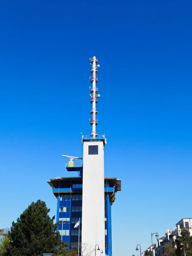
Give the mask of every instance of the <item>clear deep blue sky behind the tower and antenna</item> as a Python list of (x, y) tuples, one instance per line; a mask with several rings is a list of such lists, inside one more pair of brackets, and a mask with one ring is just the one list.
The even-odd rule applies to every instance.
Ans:
[(93, 55), (105, 176), (122, 179), (113, 256), (192, 218), (191, 0), (0, 2), (0, 228), (37, 199), (56, 214), (46, 181), (82, 156)]

